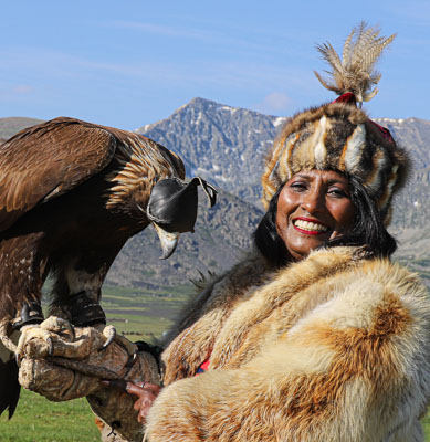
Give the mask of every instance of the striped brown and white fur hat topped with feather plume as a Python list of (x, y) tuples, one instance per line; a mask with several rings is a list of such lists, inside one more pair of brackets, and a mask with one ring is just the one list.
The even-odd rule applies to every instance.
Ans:
[(283, 128), (269, 152), (262, 177), (263, 204), (269, 207), (276, 190), (300, 170), (338, 170), (356, 177), (377, 202), (382, 219), (389, 222), (394, 192), (405, 181), (408, 158), (388, 129), (371, 122), (357, 108), (376, 95), (380, 74), (374, 64), (395, 38), (378, 36), (379, 31), (361, 23), (345, 42), (343, 60), (327, 43), (318, 51), (331, 64), (335, 81), (322, 84), (340, 95), (334, 103), (301, 112)]

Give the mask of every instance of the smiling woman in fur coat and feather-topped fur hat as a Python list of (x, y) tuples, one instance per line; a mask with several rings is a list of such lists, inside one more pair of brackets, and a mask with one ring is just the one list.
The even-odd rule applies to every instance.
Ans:
[(343, 65), (319, 48), (340, 97), (294, 116), (266, 159), (255, 252), (187, 306), (160, 394), (128, 385), (150, 442), (423, 440), (430, 302), (386, 230), (407, 158), (355, 106), (392, 36), (353, 36)]

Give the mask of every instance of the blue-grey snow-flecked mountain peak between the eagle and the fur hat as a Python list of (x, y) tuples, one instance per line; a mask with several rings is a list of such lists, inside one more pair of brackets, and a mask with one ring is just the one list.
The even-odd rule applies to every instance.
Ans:
[(136, 131), (181, 155), (187, 175), (199, 175), (255, 204), (264, 156), (285, 122), (195, 98), (169, 118)]

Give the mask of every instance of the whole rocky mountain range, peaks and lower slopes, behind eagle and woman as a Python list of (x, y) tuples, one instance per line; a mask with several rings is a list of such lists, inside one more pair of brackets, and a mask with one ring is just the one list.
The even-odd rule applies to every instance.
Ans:
[[(263, 214), (264, 155), (286, 119), (195, 98), (170, 117), (136, 129), (179, 154), (188, 176), (200, 175), (214, 183), (219, 202), (208, 209), (200, 193), (196, 232), (183, 234), (167, 261), (158, 260), (160, 246), (150, 228), (130, 239), (107, 281), (157, 291), (196, 278), (198, 270), (219, 273), (231, 266), (252, 245), (251, 234)], [(7, 127), (4, 120), (0, 128)], [(389, 128), (413, 160), (409, 183), (395, 200), (389, 229), (400, 244), (395, 257), (430, 285), (430, 122), (375, 120)]]

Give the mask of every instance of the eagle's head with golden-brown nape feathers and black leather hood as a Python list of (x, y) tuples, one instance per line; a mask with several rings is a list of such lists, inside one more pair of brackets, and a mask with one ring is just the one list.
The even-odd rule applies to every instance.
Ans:
[(211, 207), (217, 191), (200, 177), (183, 181), (182, 160), (161, 145), (137, 134), (117, 131), (117, 136), (113, 171), (106, 177), (106, 207), (129, 213), (137, 223), (151, 222), (161, 242), (161, 259), (167, 259), (179, 234), (193, 231), (197, 187), (202, 186)]

